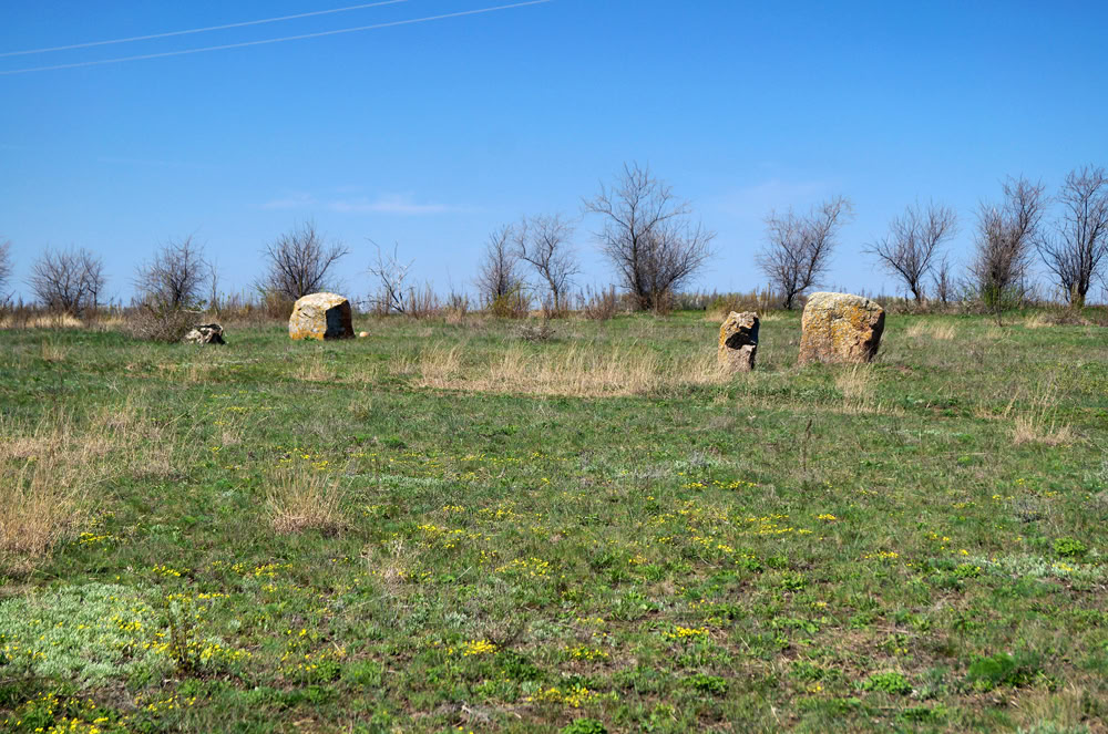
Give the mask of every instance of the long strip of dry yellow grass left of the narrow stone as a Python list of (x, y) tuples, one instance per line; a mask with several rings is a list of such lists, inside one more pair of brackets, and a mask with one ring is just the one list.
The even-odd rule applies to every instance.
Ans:
[(422, 387), (475, 392), (599, 397), (642, 395), (730, 379), (715, 350), (687, 358), (664, 358), (647, 347), (605, 352), (572, 345), (556, 352), (512, 347), (479, 364), (463, 363), (463, 349), (431, 345), (398, 371), (414, 374)]

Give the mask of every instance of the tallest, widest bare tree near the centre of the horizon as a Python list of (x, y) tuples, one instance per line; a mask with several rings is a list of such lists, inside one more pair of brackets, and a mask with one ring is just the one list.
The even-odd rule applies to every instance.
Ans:
[(596, 234), (601, 250), (639, 308), (658, 308), (712, 255), (716, 234), (700, 223), (693, 224), (691, 204), (677, 198), (667, 184), (637, 163), (624, 164), (613, 187), (602, 185), (584, 208), (604, 217), (604, 227)]

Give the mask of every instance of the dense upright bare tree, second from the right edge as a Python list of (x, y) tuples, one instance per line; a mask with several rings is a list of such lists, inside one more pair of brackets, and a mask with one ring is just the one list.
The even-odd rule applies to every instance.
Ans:
[(1023, 297), (1046, 201), (1043, 184), (1009, 177), (999, 206), (982, 203), (970, 276), (985, 307), (999, 322), (1006, 303)]

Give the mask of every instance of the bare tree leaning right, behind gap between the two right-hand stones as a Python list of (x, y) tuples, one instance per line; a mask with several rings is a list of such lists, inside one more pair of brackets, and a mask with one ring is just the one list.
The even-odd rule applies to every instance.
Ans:
[(854, 214), (844, 196), (835, 196), (807, 215), (790, 207), (783, 215), (770, 213), (766, 219), (767, 245), (756, 262), (792, 309), (798, 296), (819, 285), (831, 266), (839, 229)]

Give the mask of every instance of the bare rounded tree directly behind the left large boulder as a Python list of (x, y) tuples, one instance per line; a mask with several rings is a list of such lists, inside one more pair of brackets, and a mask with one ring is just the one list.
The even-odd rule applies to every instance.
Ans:
[(269, 260), (269, 270), (258, 287), (291, 300), (326, 290), (334, 287), (330, 276), (335, 263), (349, 254), (339, 242), (328, 245), (315, 223), (304, 223), (266, 245), (263, 255)]

